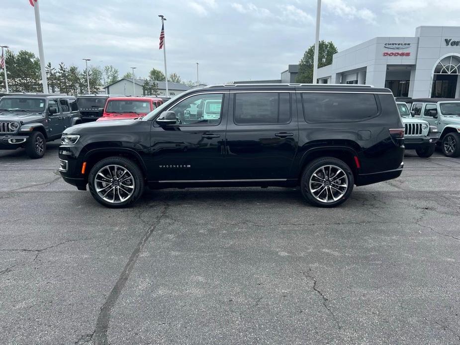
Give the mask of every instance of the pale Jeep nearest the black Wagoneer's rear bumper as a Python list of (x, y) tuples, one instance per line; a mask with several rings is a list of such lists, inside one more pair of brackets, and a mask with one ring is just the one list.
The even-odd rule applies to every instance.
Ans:
[(404, 102), (396, 102), (404, 124), (404, 146), (407, 150), (415, 150), (419, 157), (428, 158), (435, 152), (439, 132), (436, 126), (414, 117), (414, 112)]

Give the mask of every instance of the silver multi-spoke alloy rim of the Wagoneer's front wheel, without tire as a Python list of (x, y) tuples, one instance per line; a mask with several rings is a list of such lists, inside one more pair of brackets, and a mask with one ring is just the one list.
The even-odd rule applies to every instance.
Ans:
[(107, 165), (96, 173), (94, 187), (103, 200), (118, 204), (133, 195), (134, 177), (122, 166)]

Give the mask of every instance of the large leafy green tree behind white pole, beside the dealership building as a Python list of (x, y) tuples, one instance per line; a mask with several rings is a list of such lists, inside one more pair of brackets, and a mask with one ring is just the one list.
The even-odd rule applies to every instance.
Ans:
[[(332, 41), (320, 41), (318, 49), (318, 68), (332, 64), (332, 56), (337, 53), (337, 47)], [(296, 83), (312, 83), (313, 82), (313, 57), (315, 53), (315, 45), (311, 45), (303, 54), (299, 62), (299, 73), (295, 79)]]

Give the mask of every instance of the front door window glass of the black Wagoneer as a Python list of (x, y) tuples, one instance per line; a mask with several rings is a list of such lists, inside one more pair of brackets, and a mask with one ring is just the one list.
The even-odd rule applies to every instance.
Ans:
[(174, 111), (184, 126), (215, 126), (222, 117), (222, 93), (197, 94), (185, 98), (173, 106)]

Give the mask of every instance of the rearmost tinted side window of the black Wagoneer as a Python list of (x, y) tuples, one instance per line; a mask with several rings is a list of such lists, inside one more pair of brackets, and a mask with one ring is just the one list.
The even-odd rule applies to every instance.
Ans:
[(305, 121), (309, 123), (364, 121), (378, 114), (372, 93), (302, 93)]

